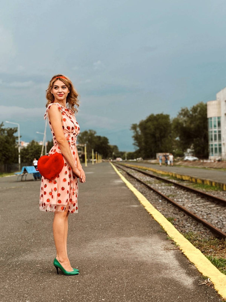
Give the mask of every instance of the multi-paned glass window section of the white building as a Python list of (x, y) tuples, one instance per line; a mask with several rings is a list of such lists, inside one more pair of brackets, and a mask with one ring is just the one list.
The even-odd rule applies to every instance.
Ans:
[(221, 156), (221, 117), (208, 118), (209, 156)]

